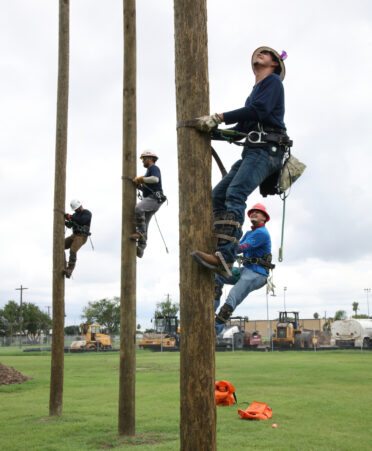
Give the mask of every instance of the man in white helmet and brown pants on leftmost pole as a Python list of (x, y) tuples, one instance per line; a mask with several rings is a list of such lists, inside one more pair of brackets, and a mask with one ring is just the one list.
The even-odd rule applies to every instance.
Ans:
[(70, 202), (70, 206), (75, 213), (73, 215), (65, 213), (65, 225), (69, 229), (72, 228), (72, 235), (65, 238), (65, 249), (70, 249), (70, 258), (63, 271), (67, 279), (71, 277), (75, 268), (77, 251), (87, 242), (88, 236), (91, 235), (90, 222), (92, 220), (92, 213), (84, 209), (79, 200), (73, 199)]

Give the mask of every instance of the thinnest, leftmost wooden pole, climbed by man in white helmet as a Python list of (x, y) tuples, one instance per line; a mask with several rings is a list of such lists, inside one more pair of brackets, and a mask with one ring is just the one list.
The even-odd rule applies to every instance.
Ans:
[(53, 222), (53, 335), (50, 375), (49, 415), (62, 415), (65, 280), (65, 222), (66, 200), (67, 120), (69, 86), (70, 1), (59, 0), (57, 130), (54, 176)]

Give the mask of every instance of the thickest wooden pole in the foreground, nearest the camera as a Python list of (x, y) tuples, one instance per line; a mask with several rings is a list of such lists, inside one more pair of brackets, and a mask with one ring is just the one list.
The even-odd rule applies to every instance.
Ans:
[[(174, 1), (177, 121), (209, 114), (206, 0)], [(216, 449), (213, 274), (190, 257), (212, 250), (210, 138), (178, 128), (181, 450)]]

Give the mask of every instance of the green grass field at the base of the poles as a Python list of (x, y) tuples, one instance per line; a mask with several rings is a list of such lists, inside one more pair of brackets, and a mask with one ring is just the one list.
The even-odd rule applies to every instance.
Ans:
[[(179, 449), (178, 353), (137, 352), (131, 439), (117, 435), (119, 353), (66, 354), (63, 416), (52, 419), (50, 353), (0, 349), (0, 362), (33, 378), (0, 386), (1, 449)], [(219, 450), (372, 447), (372, 352), (222, 352), (216, 354), (220, 379), (235, 386), (238, 405), (217, 408)], [(252, 401), (268, 403), (273, 418), (241, 420), (238, 408)]]

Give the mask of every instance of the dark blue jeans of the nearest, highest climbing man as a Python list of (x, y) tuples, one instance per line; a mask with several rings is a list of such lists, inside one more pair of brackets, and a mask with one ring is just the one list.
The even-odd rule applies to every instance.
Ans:
[[(233, 212), (243, 225), (247, 197), (271, 174), (281, 167), (283, 153), (271, 155), (268, 150), (244, 147), (242, 158), (231, 166), (230, 172), (213, 189), (213, 212)], [(239, 240), (242, 229), (235, 228), (233, 236)], [(236, 260), (238, 245), (223, 240), (217, 244), (227, 263)]]

